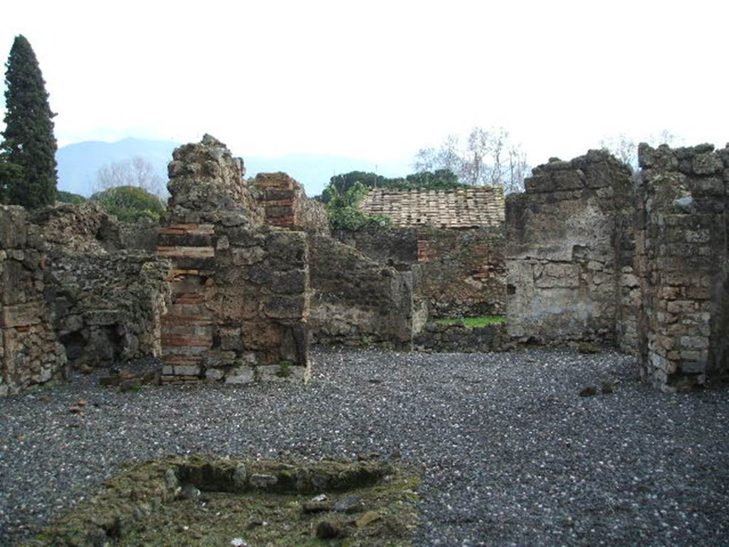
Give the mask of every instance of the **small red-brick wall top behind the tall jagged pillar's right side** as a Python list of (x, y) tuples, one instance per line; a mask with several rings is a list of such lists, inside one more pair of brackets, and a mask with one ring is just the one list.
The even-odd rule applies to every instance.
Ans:
[(286, 173), (257, 174), (254, 185), (260, 193), (258, 199), (267, 225), (329, 234), (324, 206), (307, 198), (304, 187)]

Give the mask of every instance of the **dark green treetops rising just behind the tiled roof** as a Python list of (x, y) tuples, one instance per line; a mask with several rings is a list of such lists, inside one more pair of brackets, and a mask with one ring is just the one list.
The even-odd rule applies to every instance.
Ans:
[(332, 176), (329, 186), (321, 194), (321, 201), (329, 203), (334, 192), (346, 194), (357, 184), (367, 188), (391, 188), (392, 190), (453, 190), (465, 187), (458, 182), (458, 177), (453, 174), (453, 171), (448, 169), (423, 171), (410, 174), (405, 178), (399, 176), (391, 179), (375, 173), (351, 171)]

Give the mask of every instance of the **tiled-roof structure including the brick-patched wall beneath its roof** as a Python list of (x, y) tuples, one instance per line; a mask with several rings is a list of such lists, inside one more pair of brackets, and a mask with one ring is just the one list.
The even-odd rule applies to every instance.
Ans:
[(504, 314), (504, 195), (491, 186), (457, 190), (370, 190), (362, 212), (386, 227), (335, 235), (371, 259), (408, 271), (418, 265), (431, 317)]

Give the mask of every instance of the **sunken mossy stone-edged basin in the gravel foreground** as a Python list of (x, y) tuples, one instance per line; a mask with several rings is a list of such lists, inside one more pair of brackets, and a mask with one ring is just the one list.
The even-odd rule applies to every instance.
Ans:
[(25, 545), (410, 546), (417, 484), (378, 459), (157, 459), (122, 466)]

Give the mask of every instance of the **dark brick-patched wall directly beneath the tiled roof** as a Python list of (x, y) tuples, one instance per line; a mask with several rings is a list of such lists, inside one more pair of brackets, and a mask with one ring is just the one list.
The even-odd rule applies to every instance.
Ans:
[(337, 235), (400, 271), (420, 265), (422, 292), (432, 317), (505, 313), (505, 245), (500, 228), (393, 227)]

